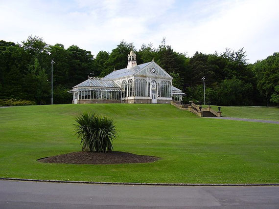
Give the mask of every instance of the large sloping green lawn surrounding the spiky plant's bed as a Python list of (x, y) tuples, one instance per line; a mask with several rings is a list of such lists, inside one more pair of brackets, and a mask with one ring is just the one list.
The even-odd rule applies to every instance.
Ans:
[[(72, 124), (77, 114), (88, 110), (115, 119), (119, 130), (114, 142), (116, 151), (157, 156), (161, 160), (121, 165), (36, 161), (80, 151)], [(275, 108), (272, 110), (278, 114)], [(278, 124), (199, 118), (169, 104), (0, 108), (0, 177), (144, 183), (279, 183), (278, 136)]]

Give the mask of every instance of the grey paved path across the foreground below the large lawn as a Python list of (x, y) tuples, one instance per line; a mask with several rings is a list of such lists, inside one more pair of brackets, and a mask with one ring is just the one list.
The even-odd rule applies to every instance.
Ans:
[(164, 187), (0, 180), (0, 208), (277, 208), (279, 187)]

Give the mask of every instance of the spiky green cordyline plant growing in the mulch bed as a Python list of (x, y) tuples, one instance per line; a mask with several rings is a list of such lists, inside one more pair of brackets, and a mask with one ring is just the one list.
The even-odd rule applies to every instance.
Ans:
[(112, 141), (117, 135), (113, 119), (86, 112), (79, 115), (75, 121), (75, 134), (81, 138), (82, 151), (112, 151)]

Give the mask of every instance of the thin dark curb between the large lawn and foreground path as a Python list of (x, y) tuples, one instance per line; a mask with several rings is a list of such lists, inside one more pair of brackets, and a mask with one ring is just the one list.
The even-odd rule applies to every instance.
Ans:
[(89, 181), (63, 181), (44, 179), (18, 179), (0, 178), (0, 180), (27, 181), (27, 182), (51, 182), (51, 183), (71, 183), (71, 184), (99, 184), (99, 185), (133, 185), (133, 186), (190, 186), (190, 187), (239, 187), (239, 186), (279, 186), (279, 184), (168, 184), (168, 183), (125, 183), (125, 182), (89, 182)]

